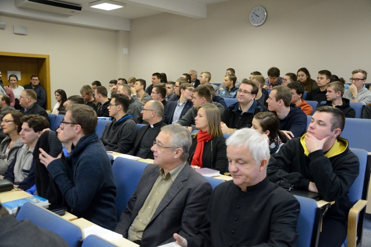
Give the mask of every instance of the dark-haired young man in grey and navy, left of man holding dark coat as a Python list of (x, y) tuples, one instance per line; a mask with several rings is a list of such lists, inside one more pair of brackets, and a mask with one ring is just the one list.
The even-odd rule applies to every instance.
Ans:
[(28, 190), (35, 184), (36, 161), (32, 153), (43, 129), (49, 127), (49, 122), (39, 115), (23, 116), (21, 122), (23, 124), (20, 136), (24, 145), (16, 151), (13, 161), (5, 172), (4, 179), (22, 190)]

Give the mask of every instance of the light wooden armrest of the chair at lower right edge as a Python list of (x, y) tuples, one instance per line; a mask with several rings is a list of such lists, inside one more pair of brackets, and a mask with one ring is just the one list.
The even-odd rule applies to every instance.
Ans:
[(367, 205), (367, 201), (359, 200), (350, 210), (348, 215), (348, 235), (347, 246), (356, 247), (357, 245), (357, 225), (358, 216), (361, 210)]

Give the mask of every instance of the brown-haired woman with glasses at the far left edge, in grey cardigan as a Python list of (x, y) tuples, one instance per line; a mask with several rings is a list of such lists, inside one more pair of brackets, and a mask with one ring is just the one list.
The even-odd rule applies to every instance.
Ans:
[(5, 174), (8, 166), (14, 159), (18, 148), (23, 145), (19, 132), (22, 129), (23, 114), (18, 111), (7, 113), (1, 121), (2, 131), (6, 137), (0, 144), (0, 176)]

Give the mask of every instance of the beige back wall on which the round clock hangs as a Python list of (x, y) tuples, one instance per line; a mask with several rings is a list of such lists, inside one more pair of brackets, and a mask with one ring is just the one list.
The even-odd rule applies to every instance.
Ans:
[[(262, 5), (267, 21), (254, 27), (250, 10)], [(211, 82), (225, 70), (238, 80), (250, 72), (278, 67), (281, 74), (306, 67), (317, 78), (327, 69), (348, 80), (351, 71), (371, 72), (370, 0), (230, 0), (208, 5), (207, 18), (172, 14), (134, 19), (130, 33), (130, 74), (150, 79), (165, 72), (176, 80), (195, 69)]]

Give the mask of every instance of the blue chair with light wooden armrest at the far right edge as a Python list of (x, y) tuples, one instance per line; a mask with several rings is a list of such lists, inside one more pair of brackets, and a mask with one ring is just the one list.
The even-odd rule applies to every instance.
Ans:
[(351, 148), (351, 150), (360, 160), (360, 173), (349, 189), (349, 200), (355, 205), (349, 210), (348, 233), (343, 247), (362, 245), (366, 199), (370, 182), (371, 159), (368, 152), (357, 148)]

